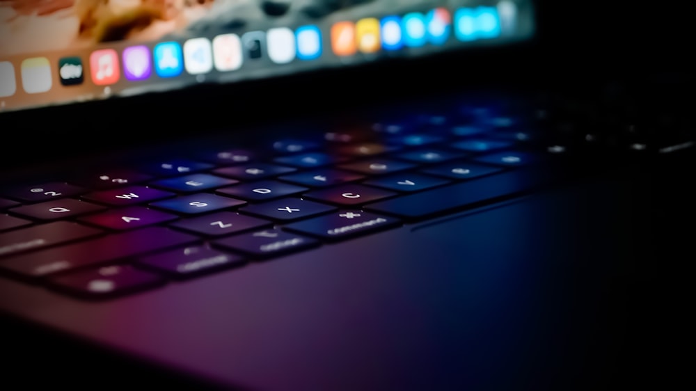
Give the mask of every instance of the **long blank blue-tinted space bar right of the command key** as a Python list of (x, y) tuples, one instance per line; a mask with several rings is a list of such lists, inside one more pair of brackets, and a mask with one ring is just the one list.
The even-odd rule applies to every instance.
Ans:
[(406, 219), (432, 217), (482, 205), (534, 189), (546, 182), (538, 171), (514, 170), (365, 205), (365, 209)]

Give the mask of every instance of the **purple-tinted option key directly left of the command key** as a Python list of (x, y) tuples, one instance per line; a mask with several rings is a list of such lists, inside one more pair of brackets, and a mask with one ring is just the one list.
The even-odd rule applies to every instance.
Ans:
[(228, 250), (239, 251), (257, 258), (274, 257), (319, 246), (319, 241), (281, 230), (265, 230), (228, 237), (213, 242)]

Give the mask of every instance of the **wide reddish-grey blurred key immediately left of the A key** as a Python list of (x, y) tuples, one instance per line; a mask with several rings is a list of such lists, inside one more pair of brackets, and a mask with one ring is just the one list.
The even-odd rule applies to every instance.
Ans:
[(101, 234), (102, 230), (77, 223), (56, 221), (0, 234), (0, 257), (36, 250)]

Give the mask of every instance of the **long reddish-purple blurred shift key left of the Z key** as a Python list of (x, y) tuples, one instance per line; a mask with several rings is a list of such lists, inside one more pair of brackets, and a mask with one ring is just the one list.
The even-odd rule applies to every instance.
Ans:
[[(10, 232), (10, 234), (14, 233)], [(145, 253), (187, 246), (197, 241), (199, 241), (198, 237), (189, 234), (161, 227), (149, 227), (49, 248), (27, 255), (18, 255), (0, 261), (0, 269), (24, 278), (38, 278), (58, 271), (96, 266), (145, 255)]]

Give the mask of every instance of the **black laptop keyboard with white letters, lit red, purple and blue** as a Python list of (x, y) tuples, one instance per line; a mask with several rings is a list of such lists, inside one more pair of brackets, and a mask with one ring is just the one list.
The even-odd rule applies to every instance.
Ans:
[(518, 114), (466, 106), (3, 184), (2, 278), (114, 298), (532, 191), (567, 147)]

